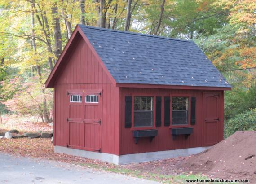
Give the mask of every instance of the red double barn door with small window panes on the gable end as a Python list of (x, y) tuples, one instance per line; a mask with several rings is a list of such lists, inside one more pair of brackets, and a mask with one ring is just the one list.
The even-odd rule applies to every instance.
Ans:
[(101, 91), (68, 92), (67, 147), (101, 152)]

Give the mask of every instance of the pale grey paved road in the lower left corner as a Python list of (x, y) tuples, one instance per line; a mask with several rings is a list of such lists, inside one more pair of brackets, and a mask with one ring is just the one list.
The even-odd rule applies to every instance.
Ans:
[(71, 164), (0, 153), (0, 184), (157, 184)]

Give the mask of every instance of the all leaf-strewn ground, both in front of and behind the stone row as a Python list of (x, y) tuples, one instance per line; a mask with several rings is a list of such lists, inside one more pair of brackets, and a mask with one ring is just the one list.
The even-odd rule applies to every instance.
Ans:
[[(36, 117), (5, 116), (0, 124), (0, 132), (17, 129), (20, 132), (50, 131), (53, 127), (47, 123), (36, 122)], [(206, 178), (203, 174), (181, 173), (174, 167), (187, 157), (170, 158), (159, 161), (134, 163), (116, 166), (99, 160), (76, 157), (67, 154), (54, 153), (50, 139), (0, 139), (0, 152), (16, 156), (42, 158), (90, 167), (98, 170), (110, 171), (138, 178), (156, 180), (163, 183), (184, 183), (186, 179)]]

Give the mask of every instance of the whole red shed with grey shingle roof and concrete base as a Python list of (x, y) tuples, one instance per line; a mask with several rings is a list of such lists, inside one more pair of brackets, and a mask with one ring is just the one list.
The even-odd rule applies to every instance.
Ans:
[(199, 153), (223, 140), (231, 86), (189, 40), (78, 25), (46, 81), (54, 148), (115, 164)]

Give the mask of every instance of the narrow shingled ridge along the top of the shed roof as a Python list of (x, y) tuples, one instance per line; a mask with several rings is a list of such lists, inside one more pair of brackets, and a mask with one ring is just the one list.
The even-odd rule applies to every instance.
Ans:
[(147, 34), (130, 32), (130, 31), (112, 30), (112, 29), (107, 29), (107, 28), (102, 28), (102, 27), (85, 26), (83, 24), (78, 24), (78, 26), (86, 27), (88, 29), (97, 29), (97, 30), (102, 30), (102, 31), (119, 32), (119, 33), (125, 33), (125, 34), (130, 34), (130, 35), (141, 35), (141, 36), (148, 36), (148, 37), (161, 38), (161, 39), (171, 39), (171, 40), (174, 40), (174, 41), (190, 42), (191, 43), (190, 40), (186, 40), (186, 39), (168, 38), (168, 37), (164, 37), (164, 36), (147, 35)]

